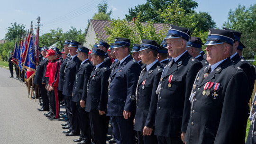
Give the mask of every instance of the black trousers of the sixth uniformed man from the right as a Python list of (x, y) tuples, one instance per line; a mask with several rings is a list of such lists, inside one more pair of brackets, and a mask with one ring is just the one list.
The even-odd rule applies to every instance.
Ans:
[(81, 138), (86, 143), (91, 143), (91, 127), (89, 113), (80, 106), (80, 102), (76, 102), (78, 125), (81, 131)]

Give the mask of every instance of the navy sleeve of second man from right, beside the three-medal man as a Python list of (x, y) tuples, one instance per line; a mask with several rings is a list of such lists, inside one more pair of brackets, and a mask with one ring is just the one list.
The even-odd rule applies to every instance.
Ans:
[(186, 90), (186, 91), (185, 91), (181, 132), (186, 132), (186, 130), (187, 130), (189, 117), (190, 117), (190, 107), (191, 107), (189, 97), (191, 94), (191, 90), (193, 87), (195, 77), (201, 68), (202, 68), (201, 62), (198, 61), (198, 62), (193, 63), (192, 66), (190, 67), (190, 69), (188, 70), (186, 78), (185, 78), (186, 79), (186, 87), (184, 88), (184, 90)]

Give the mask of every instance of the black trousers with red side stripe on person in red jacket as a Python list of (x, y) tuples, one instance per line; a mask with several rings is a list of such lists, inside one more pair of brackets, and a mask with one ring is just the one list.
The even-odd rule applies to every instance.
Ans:
[(60, 103), (59, 103), (57, 87), (55, 87), (54, 90), (50, 91), (50, 93), (51, 93), (50, 103), (51, 103), (52, 113), (55, 115), (55, 118), (59, 118)]

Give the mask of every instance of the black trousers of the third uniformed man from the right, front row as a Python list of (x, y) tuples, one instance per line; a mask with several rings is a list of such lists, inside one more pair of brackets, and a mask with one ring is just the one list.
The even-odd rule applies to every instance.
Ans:
[(157, 136), (154, 135), (154, 129), (151, 135), (143, 135), (142, 132), (137, 132), (138, 144), (157, 144)]

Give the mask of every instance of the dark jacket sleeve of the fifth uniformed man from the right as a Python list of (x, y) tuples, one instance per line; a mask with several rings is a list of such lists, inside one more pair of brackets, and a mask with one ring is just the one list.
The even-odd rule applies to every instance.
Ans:
[(104, 72), (101, 74), (101, 98), (99, 102), (98, 109), (101, 111), (107, 111), (107, 104), (108, 104), (108, 87), (109, 87), (109, 77), (110, 77), (110, 70), (105, 69)]

